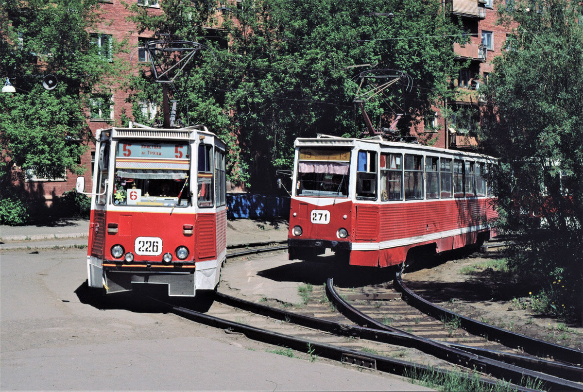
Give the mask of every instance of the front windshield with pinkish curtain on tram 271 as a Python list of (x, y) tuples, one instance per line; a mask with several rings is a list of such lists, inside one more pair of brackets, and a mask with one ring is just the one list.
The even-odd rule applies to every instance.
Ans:
[(296, 195), (347, 197), (350, 150), (300, 148)]

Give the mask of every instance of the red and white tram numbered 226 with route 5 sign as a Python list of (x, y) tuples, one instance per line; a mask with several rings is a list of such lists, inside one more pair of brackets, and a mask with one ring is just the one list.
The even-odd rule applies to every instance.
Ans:
[(224, 143), (202, 125), (130, 124), (96, 139), (89, 286), (115, 293), (163, 284), (169, 296), (215, 289), (227, 245)]

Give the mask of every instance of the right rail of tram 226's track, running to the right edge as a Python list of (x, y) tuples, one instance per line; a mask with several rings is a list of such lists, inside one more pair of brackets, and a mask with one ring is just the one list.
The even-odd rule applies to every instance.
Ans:
[[(330, 282), (332, 279), (328, 279)], [(327, 288), (328, 286), (326, 286)], [(336, 335), (353, 336), (371, 341), (383, 342), (401, 347), (416, 348), (426, 354), (436, 356), (444, 361), (456, 365), (465, 366), (469, 369), (476, 369), (483, 373), (489, 373), (498, 379), (508, 380), (509, 382), (521, 382), (525, 377), (531, 380), (540, 380), (547, 387), (553, 387), (557, 390), (578, 390), (583, 391), (583, 385), (563, 380), (559, 377), (547, 375), (545, 373), (535, 372), (534, 370), (520, 368), (496, 361), (496, 359), (484, 358), (483, 356), (472, 354), (461, 349), (452, 347), (448, 344), (442, 344), (430, 339), (417, 337), (402, 331), (387, 331), (375, 328), (360, 327), (358, 325), (346, 325), (335, 323), (333, 321), (321, 320), (316, 317), (305, 316), (303, 314), (293, 313), (287, 310), (277, 309), (259, 303), (250, 302), (240, 298), (215, 292), (217, 300), (230, 306), (238, 307), (251, 311), (255, 314), (268, 316), (277, 320), (285, 320), (304, 327), (314, 328), (320, 331), (330, 332)], [(338, 296), (340, 306), (343, 300)], [(344, 302), (345, 303), (345, 302)], [(354, 321), (354, 320), (353, 320)], [(382, 324), (384, 325), (384, 324)]]

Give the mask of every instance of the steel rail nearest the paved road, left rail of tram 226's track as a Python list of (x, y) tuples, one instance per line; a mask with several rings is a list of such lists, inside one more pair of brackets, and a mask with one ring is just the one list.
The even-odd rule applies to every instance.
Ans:
[[(229, 297), (223, 295), (224, 297)], [(278, 332), (264, 330), (262, 328), (252, 327), (251, 325), (237, 323), (236, 321), (229, 321), (225, 320), (224, 318), (219, 318), (215, 316), (209, 316), (208, 314), (201, 313), (199, 311), (187, 309), (182, 306), (175, 306), (170, 303), (163, 302), (159, 299), (152, 298), (157, 302), (163, 303), (171, 310), (173, 310), (177, 314), (182, 314), (183, 317), (188, 318), (189, 320), (196, 321), (197, 323), (209, 325), (215, 328), (222, 328), (227, 333), (235, 333), (235, 334), (243, 334), (245, 337), (255, 340), (264, 342), (267, 344), (285, 346), (296, 351), (306, 351), (308, 348), (314, 349), (315, 355), (321, 356), (322, 358), (328, 358), (333, 361), (338, 361), (341, 363), (348, 363), (351, 365), (362, 366), (368, 369), (379, 370), (385, 373), (391, 373), (399, 376), (405, 377), (412, 377), (419, 372), (434, 372), (438, 373), (442, 376), (447, 376), (452, 372), (448, 370), (442, 369), (434, 369), (430, 366), (419, 364), (419, 363), (412, 363), (408, 361), (402, 361), (396, 358), (388, 358), (382, 355), (370, 354), (363, 351), (357, 351), (354, 349), (338, 347), (331, 344), (325, 344), (317, 341), (312, 341), (303, 338), (292, 337), (285, 334), (280, 334)], [(233, 297), (231, 297), (233, 298)], [(260, 305), (261, 307), (266, 307), (264, 305)], [(271, 308), (275, 309), (275, 308)], [(290, 317), (301, 316), (298, 314), (294, 314), (291, 312), (286, 312), (280, 309), (279, 310), (283, 313), (288, 313)], [(302, 316), (308, 317), (308, 316)], [(314, 317), (312, 317), (314, 318)], [(381, 332), (381, 331), (374, 331), (371, 330), (372, 333)], [(382, 332), (381, 332), (382, 333)], [(465, 377), (469, 378), (469, 377)], [(484, 379), (480, 377), (480, 382), (489, 385), (489, 386), (497, 386), (498, 382), (494, 382), (493, 380)], [(514, 384), (510, 384), (510, 387), (513, 390), (517, 390), (520, 392), (534, 392), (537, 390), (530, 389), (527, 387), (517, 386)]]

